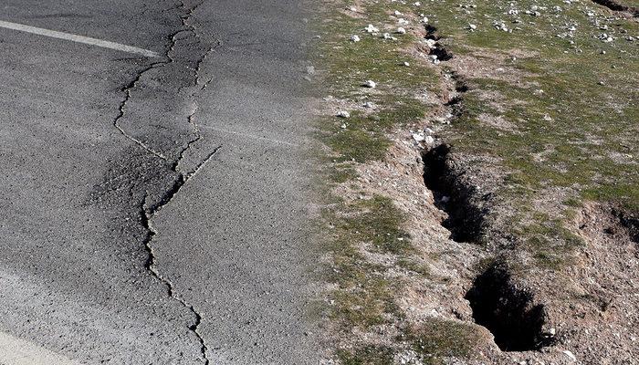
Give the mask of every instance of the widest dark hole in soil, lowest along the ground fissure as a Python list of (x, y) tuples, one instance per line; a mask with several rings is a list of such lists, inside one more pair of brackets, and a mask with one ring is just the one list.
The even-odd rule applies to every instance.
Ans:
[(502, 351), (529, 351), (551, 345), (542, 335), (544, 308), (533, 305), (533, 296), (515, 287), (508, 271), (491, 266), (477, 276), (466, 293), (475, 322), (486, 327)]

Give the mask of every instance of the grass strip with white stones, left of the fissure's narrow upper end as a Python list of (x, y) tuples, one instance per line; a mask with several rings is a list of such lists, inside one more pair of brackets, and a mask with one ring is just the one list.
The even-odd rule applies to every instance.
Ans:
[[(347, 2), (344, 4), (343, 8), (348, 5)], [(336, 5), (336, 8), (342, 7)], [(321, 124), (321, 141), (339, 156), (340, 161), (381, 160), (390, 146), (385, 133), (395, 126), (424, 118), (428, 106), (414, 98), (415, 90), (435, 88), (438, 79), (433, 70), (424, 66), (400, 66), (411, 59), (403, 48), (415, 42), (413, 36), (397, 36), (397, 41), (384, 41), (380, 36), (364, 34), (362, 30), (367, 24), (381, 27), (382, 20), (388, 20), (384, 6), (373, 5), (367, 9), (369, 19), (365, 21), (340, 11), (327, 10), (325, 17), (330, 21), (319, 25), (322, 41), (316, 57), (325, 69), (324, 83), (330, 94), (358, 104), (371, 101), (380, 109), (371, 116), (356, 111), (348, 120), (334, 117)], [(351, 35), (361, 36), (361, 41), (351, 42)], [(361, 87), (369, 79), (377, 83), (377, 89)], [(340, 128), (342, 123), (346, 124), (346, 129)]]

